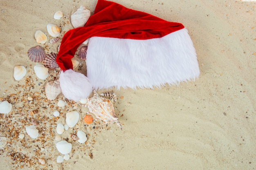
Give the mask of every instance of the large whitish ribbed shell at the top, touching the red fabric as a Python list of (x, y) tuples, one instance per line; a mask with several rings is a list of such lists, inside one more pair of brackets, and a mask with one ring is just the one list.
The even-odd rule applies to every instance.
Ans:
[(71, 23), (74, 28), (84, 26), (85, 23), (89, 20), (90, 15), (90, 11), (85, 7), (81, 6), (79, 9), (77, 9), (76, 12), (71, 15)]

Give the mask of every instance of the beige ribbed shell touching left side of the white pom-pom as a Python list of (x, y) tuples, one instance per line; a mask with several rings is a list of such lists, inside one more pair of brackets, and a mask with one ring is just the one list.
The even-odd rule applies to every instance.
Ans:
[(58, 79), (49, 80), (45, 84), (45, 95), (46, 95), (47, 99), (54, 100), (58, 97), (59, 94), (61, 94), (61, 86), (60, 86), (59, 80)]

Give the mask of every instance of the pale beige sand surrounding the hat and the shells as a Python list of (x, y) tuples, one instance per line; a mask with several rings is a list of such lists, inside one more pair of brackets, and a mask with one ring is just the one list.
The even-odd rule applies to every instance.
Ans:
[[(198, 54), (200, 77), (179, 86), (110, 89), (117, 97), (124, 97), (115, 102), (123, 130), (117, 124), (101, 127), (101, 122), (85, 126), (81, 120), (76, 128), (62, 135), (72, 143), (72, 157), (56, 163), (56, 157), (61, 155), (54, 146), (56, 124), (65, 124), (65, 112), (74, 103), (58, 108), (56, 103), (63, 96), (44, 102), (43, 85), (51, 77), (36, 78), (33, 66), (38, 63), (29, 60), (27, 51), (38, 45), (34, 39), (36, 30), (46, 32), (46, 25), (53, 23), (68, 31), (72, 29), (70, 15), (80, 5), (93, 13), (97, 1), (1, 0), (0, 98), (11, 102), (13, 110), (0, 115), (0, 135), (8, 139), (0, 150), (0, 169), (255, 169), (256, 2), (114, 1), (184, 24)], [(54, 20), (53, 15), (59, 10), (66, 18)], [(47, 53), (56, 52), (57, 44), (49, 44), (47, 49)], [(83, 64), (80, 71), (86, 70), (84, 61), (79, 62)], [(20, 81), (13, 78), (16, 65), (26, 66), (28, 71)], [(57, 72), (50, 74), (54, 77)], [(27, 78), (30, 79), (26, 81)], [(26, 99), (28, 95), (34, 97), (31, 103)], [(38, 113), (29, 114), (33, 109)], [(59, 119), (53, 116), (55, 110), (61, 112)], [(81, 116), (86, 112), (84, 108), (78, 110)], [(31, 125), (33, 119), (40, 128), (37, 140), (25, 132), (25, 126)], [(77, 130), (88, 134), (85, 144), (71, 140), (70, 135)], [(20, 133), (25, 134), (24, 139), (18, 137)], [(46, 164), (38, 163), (39, 158), (45, 159)]]

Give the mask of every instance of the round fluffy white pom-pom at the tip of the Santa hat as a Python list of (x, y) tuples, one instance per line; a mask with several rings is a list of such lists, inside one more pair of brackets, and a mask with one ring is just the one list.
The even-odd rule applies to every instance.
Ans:
[(80, 99), (87, 98), (92, 92), (92, 85), (88, 77), (73, 70), (60, 73), (60, 86), (63, 95), (67, 99), (78, 102)]

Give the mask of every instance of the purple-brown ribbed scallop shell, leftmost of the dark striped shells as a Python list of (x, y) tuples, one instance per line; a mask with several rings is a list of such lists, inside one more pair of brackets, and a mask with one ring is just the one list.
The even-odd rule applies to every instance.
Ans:
[(45, 60), (45, 51), (39, 45), (31, 47), (27, 51), (27, 53), (28, 53), (29, 59), (32, 62), (41, 62), (41, 61)]

